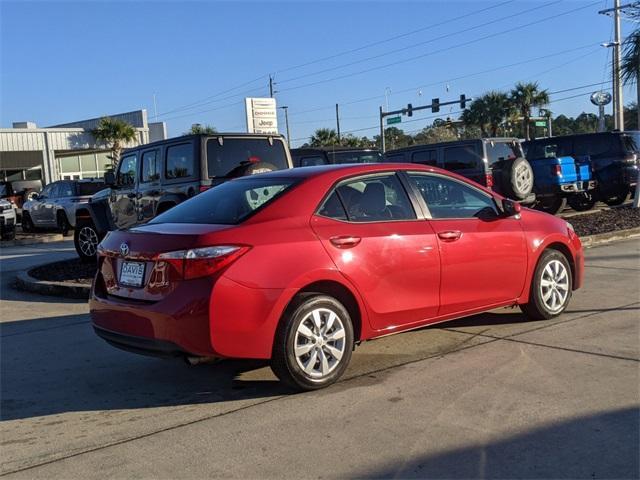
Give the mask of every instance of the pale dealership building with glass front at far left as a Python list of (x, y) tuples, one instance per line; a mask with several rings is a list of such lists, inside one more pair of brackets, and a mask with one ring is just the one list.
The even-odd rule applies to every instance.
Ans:
[[(167, 137), (165, 123), (149, 123), (146, 110), (105, 116), (124, 120), (136, 129), (137, 138), (126, 147)], [(0, 128), (0, 181), (42, 180), (47, 184), (102, 177), (111, 160), (106, 146), (91, 135), (100, 118), (46, 128), (14, 122), (13, 128)]]

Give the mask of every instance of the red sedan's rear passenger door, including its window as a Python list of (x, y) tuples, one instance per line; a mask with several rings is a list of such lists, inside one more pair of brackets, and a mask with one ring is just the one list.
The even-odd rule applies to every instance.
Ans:
[(420, 215), (398, 175), (383, 173), (339, 183), (312, 218), (336, 267), (364, 298), (376, 330), (391, 332), (437, 314), (438, 243)]

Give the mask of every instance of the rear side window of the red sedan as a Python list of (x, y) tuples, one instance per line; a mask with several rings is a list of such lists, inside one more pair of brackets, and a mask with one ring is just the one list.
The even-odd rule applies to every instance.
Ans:
[(349, 222), (414, 220), (416, 214), (397, 175), (351, 179), (327, 197), (319, 214)]

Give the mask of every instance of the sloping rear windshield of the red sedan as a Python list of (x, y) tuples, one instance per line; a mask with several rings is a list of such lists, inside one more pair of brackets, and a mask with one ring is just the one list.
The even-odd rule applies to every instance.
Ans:
[(211, 223), (235, 225), (272, 202), (294, 184), (291, 178), (245, 177), (213, 187), (149, 223)]

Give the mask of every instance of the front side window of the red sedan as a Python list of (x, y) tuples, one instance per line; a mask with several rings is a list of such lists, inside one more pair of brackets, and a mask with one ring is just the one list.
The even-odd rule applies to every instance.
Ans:
[(441, 175), (410, 173), (422, 195), (431, 218), (487, 218), (496, 217), (498, 210), (489, 195), (457, 180)]

